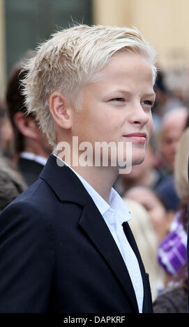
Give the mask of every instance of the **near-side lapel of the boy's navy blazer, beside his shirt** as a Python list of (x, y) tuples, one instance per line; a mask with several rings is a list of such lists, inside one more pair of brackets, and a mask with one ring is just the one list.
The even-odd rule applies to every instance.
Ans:
[(101, 216), (93, 200), (90, 199), (84, 206), (79, 224), (86, 234), (88, 234), (96, 248), (98, 248), (100, 254), (103, 256), (110, 269), (112, 269), (118, 282), (121, 283), (135, 312), (138, 312), (137, 299), (126, 264), (123, 261), (121, 253), (116, 246), (103, 216)]

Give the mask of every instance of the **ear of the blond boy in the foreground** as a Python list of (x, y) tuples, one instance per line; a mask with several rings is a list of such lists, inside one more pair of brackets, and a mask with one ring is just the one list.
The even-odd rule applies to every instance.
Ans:
[(49, 108), (56, 124), (63, 129), (72, 127), (72, 108), (64, 95), (52, 93), (49, 98)]

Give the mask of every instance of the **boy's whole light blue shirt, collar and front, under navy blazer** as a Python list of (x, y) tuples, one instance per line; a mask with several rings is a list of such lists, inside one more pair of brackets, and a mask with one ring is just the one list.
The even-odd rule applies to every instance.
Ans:
[[(71, 170), (73, 170), (73, 168), (71, 168), (67, 163), (65, 164)], [(84, 185), (86, 191), (93, 199), (93, 202), (95, 202), (96, 207), (98, 207), (100, 214), (103, 216), (105, 223), (107, 224), (107, 227), (109, 228), (109, 231), (111, 232), (112, 237), (114, 238), (114, 241), (119, 248), (119, 251), (128, 269), (130, 279), (133, 282), (133, 288), (135, 289), (139, 312), (142, 313), (144, 297), (142, 276), (139, 269), (137, 257), (135, 256), (135, 253), (126, 238), (126, 234), (124, 233), (122, 227), (123, 222), (130, 220), (130, 212), (128, 207), (126, 207), (125, 202), (123, 202), (119, 194), (113, 188), (109, 196), (109, 202), (107, 203), (100, 196), (100, 194), (95, 189), (93, 189), (93, 187), (88, 182), (86, 182), (86, 180), (84, 180), (81, 175), (79, 175), (75, 170), (73, 170), (73, 173), (77, 175), (77, 177)]]

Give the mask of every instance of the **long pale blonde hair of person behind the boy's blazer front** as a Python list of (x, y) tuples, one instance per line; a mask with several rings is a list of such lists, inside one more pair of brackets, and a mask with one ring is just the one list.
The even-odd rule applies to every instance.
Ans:
[(151, 295), (154, 301), (164, 288), (165, 273), (157, 261), (158, 238), (151, 224), (149, 213), (139, 202), (123, 198), (130, 210), (130, 228), (134, 234), (144, 267), (149, 273)]

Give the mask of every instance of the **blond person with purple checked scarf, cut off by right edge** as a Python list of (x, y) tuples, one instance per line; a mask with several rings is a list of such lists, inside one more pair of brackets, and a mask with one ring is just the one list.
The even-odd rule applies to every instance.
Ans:
[(157, 313), (188, 312), (188, 157), (189, 127), (183, 131), (174, 162), (175, 185), (181, 200), (180, 207), (174, 216), (169, 234), (158, 248), (158, 260), (167, 273), (167, 286), (153, 303), (153, 310)]

